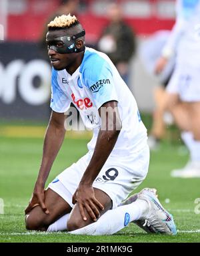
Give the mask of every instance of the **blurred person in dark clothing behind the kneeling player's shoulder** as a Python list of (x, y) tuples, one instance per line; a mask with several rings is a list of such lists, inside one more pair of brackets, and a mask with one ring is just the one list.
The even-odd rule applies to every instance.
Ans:
[(110, 57), (125, 83), (129, 85), (129, 61), (135, 53), (135, 33), (123, 21), (122, 11), (117, 3), (109, 5), (107, 15), (109, 24), (103, 29), (97, 47)]

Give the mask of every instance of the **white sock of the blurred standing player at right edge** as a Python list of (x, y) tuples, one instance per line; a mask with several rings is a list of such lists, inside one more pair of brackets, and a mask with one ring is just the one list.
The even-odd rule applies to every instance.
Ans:
[(181, 138), (189, 149), (191, 161), (200, 162), (200, 141), (194, 140), (192, 132), (181, 132)]

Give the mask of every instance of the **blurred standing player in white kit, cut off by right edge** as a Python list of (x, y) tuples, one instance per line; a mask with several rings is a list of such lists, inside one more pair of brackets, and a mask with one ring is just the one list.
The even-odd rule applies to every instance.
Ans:
[(177, 19), (169, 40), (158, 59), (159, 74), (176, 52), (176, 66), (167, 85), (167, 108), (181, 129), (181, 138), (190, 152), (183, 169), (171, 176), (200, 177), (200, 0), (178, 0)]

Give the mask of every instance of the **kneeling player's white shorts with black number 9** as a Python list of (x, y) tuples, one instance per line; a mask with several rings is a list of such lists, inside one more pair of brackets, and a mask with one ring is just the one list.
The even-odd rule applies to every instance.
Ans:
[[(76, 163), (59, 174), (48, 188), (60, 195), (71, 207), (72, 197), (87, 168), (93, 152), (89, 151)], [(115, 209), (147, 176), (149, 168), (149, 146), (127, 156), (109, 156), (93, 187), (103, 190), (113, 203)]]

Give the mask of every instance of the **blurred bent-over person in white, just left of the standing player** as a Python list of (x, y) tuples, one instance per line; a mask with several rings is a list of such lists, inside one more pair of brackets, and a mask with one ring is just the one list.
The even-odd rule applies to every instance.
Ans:
[[(161, 51), (165, 43), (167, 42), (169, 35), (170, 31), (157, 31), (153, 33), (153, 35), (151, 35), (148, 39), (146, 39), (139, 48), (139, 56), (141, 58), (141, 61), (143, 61), (143, 66), (151, 76), (155, 76), (155, 63), (161, 55)], [(166, 117), (167, 120), (170, 120), (169, 118), (171, 117), (169, 112), (165, 111), (165, 87), (167, 86), (171, 78), (174, 66), (175, 55), (171, 57), (171, 59), (165, 66), (165, 69), (163, 69), (161, 74), (159, 74), (157, 79), (158, 86), (156, 86), (153, 91), (155, 110), (153, 111), (153, 124), (148, 138), (148, 144), (150, 149), (157, 149), (157, 146), (159, 146), (159, 141), (165, 136)]]

